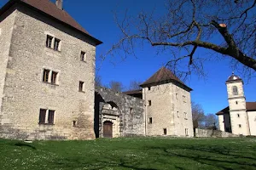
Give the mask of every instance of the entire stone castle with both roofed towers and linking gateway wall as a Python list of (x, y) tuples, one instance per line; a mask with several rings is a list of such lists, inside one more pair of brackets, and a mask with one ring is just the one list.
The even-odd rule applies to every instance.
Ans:
[(143, 90), (95, 87), (101, 43), (62, 0), (9, 0), (0, 9), (0, 138), (192, 137), (192, 89), (168, 69)]

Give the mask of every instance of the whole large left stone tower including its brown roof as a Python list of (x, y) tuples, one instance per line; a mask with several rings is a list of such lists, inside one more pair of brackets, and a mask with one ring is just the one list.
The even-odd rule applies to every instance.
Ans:
[(96, 46), (62, 0), (10, 0), (0, 9), (3, 138), (95, 139)]

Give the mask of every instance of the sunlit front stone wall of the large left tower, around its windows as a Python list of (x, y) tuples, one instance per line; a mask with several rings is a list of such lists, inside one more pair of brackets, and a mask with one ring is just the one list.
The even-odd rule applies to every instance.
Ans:
[[(1, 137), (15, 139), (95, 139), (95, 44), (28, 8), (18, 7), (3, 88)], [(61, 51), (46, 48), (46, 36), (61, 40)], [(85, 62), (80, 52), (87, 53)], [(42, 82), (57, 71), (58, 84)], [(84, 93), (79, 92), (79, 81)], [(39, 125), (39, 110), (55, 111), (54, 125)], [(76, 125), (73, 126), (73, 121)]]

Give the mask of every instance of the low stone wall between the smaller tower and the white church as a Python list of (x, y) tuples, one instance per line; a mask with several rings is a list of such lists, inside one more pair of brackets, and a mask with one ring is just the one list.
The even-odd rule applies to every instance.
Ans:
[(233, 133), (227, 133), (227, 132), (220, 131), (220, 130), (195, 128), (195, 137), (198, 137), (198, 138), (210, 138), (210, 137), (229, 138), (229, 137), (239, 137), (239, 135), (236, 135)]

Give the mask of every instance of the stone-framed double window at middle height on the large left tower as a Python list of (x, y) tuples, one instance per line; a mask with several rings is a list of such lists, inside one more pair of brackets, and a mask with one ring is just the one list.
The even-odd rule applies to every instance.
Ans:
[(42, 82), (59, 86), (60, 71), (56, 71), (47, 67), (43, 67)]

